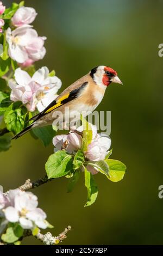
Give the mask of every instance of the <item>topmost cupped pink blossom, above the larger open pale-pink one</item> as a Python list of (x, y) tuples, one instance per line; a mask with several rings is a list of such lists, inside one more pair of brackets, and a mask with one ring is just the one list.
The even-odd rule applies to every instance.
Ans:
[(15, 27), (20, 27), (32, 23), (36, 15), (37, 13), (34, 8), (22, 6), (18, 8), (11, 21)]

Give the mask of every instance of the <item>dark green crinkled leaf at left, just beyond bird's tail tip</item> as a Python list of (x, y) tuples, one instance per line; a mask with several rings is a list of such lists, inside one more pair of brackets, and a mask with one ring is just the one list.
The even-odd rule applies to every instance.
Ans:
[(4, 113), (4, 121), (7, 129), (14, 134), (22, 131), (25, 125), (27, 108), (22, 106), (22, 102), (12, 103)]

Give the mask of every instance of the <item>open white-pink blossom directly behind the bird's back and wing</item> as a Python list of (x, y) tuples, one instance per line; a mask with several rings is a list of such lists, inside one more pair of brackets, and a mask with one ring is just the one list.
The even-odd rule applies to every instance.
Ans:
[(57, 76), (48, 76), (49, 70), (46, 66), (37, 70), (30, 77), (29, 74), (18, 68), (15, 70), (15, 80), (9, 80), (11, 88), (10, 99), (22, 101), (29, 111), (35, 108), (41, 112), (57, 97), (61, 81)]

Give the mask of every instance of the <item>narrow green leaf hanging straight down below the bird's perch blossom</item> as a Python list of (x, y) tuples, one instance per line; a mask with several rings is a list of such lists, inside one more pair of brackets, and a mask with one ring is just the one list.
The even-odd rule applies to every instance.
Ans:
[(84, 167), (84, 174), (85, 174), (85, 186), (87, 188), (87, 202), (84, 205), (85, 207), (95, 203), (95, 200), (98, 195), (98, 187), (93, 178), (93, 175), (86, 169), (86, 167)]

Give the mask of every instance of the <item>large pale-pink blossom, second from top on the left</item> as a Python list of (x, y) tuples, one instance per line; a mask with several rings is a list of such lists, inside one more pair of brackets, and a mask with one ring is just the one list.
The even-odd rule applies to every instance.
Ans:
[(30, 25), (23, 25), (11, 31), (9, 27), (6, 32), (6, 39), (9, 44), (9, 56), (18, 63), (24, 63), (28, 59), (42, 59), (46, 49), (43, 46), (45, 36), (38, 36), (35, 29)]

